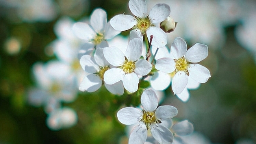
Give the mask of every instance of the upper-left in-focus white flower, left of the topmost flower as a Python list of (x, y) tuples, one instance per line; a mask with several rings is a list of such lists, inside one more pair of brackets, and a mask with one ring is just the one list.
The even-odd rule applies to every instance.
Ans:
[(103, 9), (95, 9), (91, 14), (90, 24), (76, 22), (73, 26), (74, 33), (80, 39), (84, 39), (97, 47), (104, 48), (108, 46), (106, 40), (112, 39), (120, 33), (114, 30), (109, 22), (107, 23), (107, 14)]

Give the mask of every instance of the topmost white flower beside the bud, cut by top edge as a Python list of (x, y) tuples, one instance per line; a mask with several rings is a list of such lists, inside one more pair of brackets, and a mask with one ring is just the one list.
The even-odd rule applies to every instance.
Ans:
[(156, 4), (147, 14), (145, 0), (130, 0), (128, 5), (135, 17), (131, 15), (116, 15), (110, 20), (111, 26), (118, 31), (125, 31), (131, 28), (140, 30), (142, 35), (147, 34), (148, 40), (150, 40), (150, 35), (154, 35), (152, 45), (158, 48), (165, 46), (167, 44), (166, 33), (156, 25), (169, 16), (170, 7), (167, 4)]

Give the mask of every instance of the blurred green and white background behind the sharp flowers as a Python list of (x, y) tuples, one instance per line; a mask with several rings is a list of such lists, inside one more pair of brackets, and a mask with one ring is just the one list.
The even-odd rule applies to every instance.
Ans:
[[(182, 37), (189, 47), (209, 48), (200, 63), (210, 69), (209, 81), (185, 103), (168, 88), (160, 104), (177, 107), (174, 120), (193, 124), (193, 144), (256, 144), (256, 1), (146, 1), (148, 11), (157, 3), (171, 7), (178, 24), (167, 46)], [(0, 144), (128, 143), (116, 113), (139, 105), (139, 97), (78, 90), (84, 43), (71, 27), (88, 22), (97, 7), (108, 20), (130, 14), (128, 0), (0, 0)]]

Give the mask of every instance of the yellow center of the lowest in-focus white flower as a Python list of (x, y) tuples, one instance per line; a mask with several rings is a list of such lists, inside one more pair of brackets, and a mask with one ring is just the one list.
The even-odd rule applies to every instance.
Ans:
[(156, 115), (155, 115), (154, 111), (153, 112), (147, 112), (143, 109), (142, 112), (143, 112), (143, 116), (142, 116), (141, 121), (143, 121), (146, 124), (147, 129), (150, 127), (151, 124), (161, 123), (161, 121), (156, 118)]

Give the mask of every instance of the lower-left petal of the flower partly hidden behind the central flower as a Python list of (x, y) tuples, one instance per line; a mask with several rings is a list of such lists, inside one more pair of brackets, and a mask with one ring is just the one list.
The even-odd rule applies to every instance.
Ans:
[(82, 83), (79, 86), (79, 90), (87, 92), (95, 92), (102, 85), (102, 80), (96, 74), (89, 74), (83, 78)]

